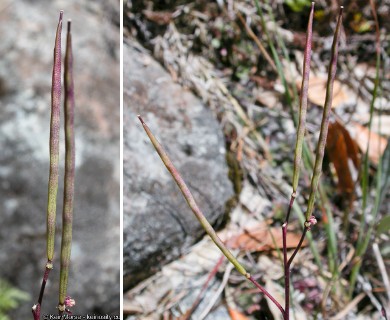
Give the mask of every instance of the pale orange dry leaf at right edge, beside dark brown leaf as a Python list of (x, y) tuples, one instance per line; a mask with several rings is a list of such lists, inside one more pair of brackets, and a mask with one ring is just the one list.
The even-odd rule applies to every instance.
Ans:
[(368, 157), (375, 164), (378, 165), (379, 158), (382, 156), (386, 149), (387, 140), (381, 137), (379, 134), (371, 131), (368, 128), (362, 126), (359, 123), (353, 123), (355, 129), (355, 140), (363, 153), (367, 151), (367, 142), (370, 139), (370, 149), (368, 151)]

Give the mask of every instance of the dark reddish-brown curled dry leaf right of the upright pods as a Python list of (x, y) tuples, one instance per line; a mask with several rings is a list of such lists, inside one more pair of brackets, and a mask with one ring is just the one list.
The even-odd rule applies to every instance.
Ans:
[(339, 191), (351, 194), (354, 191), (355, 183), (352, 179), (348, 160), (351, 159), (355, 167), (359, 167), (359, 150), (356, 142), (339, 122), (329, 125), (326, 151), (330, 162), (333, 163), (336, 169)]

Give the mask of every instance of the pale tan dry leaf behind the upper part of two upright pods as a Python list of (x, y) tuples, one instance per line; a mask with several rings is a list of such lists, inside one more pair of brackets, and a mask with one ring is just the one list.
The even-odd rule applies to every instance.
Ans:
[[(324, 106), (326, 96), (326, 82), (327, 78), (323, 76), (315, 77), (310, 76), (309, 79), (309, 101), (318, 105)], [(302, 83), (297, 81), (299, 90), (301, 89)], [(341, 106), (349, 100), (347, 89), (341, 84), (340, 81), (335, 80), (333, 84), (333, 100), (332, 108)]]

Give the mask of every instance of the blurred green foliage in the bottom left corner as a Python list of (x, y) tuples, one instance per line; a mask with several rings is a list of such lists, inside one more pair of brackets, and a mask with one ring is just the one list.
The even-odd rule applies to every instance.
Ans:
[(30, 300), (30, 296), (8, 282), (0, 279), (0, 320), (10, 320), (7, 313), (19, 306), (20, 302)]

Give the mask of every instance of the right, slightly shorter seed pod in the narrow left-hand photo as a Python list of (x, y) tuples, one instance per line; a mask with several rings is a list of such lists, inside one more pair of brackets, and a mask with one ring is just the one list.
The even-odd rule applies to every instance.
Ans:
[(74, 140), (74, 84), (73, 84), (73, 55), (71, 21), (68, 21), (65, 53), (65, 181), (64, 181), (64, 206), (62, 212), (62, 241), (61, 241), (61, 269), (59, 310), (65, 305), (68, 285), (70, 253), (72, 246), (72, 220), (74, 198), (74, 173), (75, 173), (75, 140)]

